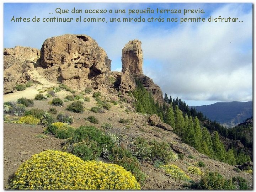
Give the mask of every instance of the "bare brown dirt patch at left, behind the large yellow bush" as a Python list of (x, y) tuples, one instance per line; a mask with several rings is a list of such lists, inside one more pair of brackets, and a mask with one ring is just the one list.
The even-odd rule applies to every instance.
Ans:
[(9, 177), (33, 154), (47, 149), (61, 149), (62, 139), (35, 137), (43, 132), (43, 128), (42, 125), (4, 123), (4, 188)]

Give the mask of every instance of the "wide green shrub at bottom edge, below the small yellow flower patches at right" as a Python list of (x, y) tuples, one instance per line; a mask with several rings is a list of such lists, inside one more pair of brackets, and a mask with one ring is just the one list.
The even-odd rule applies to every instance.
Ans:
[(206, 171), (198, 182), (192, 182), (190, 188), (202, 190), (235, 190), (234, 183), (224, 178), (217, 171)]

